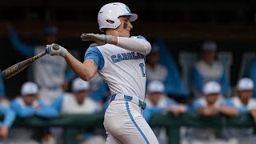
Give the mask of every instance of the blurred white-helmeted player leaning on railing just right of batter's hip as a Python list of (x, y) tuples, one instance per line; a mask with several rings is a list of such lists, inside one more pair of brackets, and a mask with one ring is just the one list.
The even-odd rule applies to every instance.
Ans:
[[(187, 108), (184, 105), (180, 105), (174, 102), (170, 98), (166, 97), (164, 92), (164, 85), (159, 81), (152, 81), (147, 87), (146, 97), (146, 109), (143, 111), (143, 117), (147, 122), (150, 121), (152, 114), (170, 112), (174, 115), (185, 113)], [(167, 143), (166, 129), (153, 128), (154, 134), (158, 138), (158, 142), (161, 144)]]

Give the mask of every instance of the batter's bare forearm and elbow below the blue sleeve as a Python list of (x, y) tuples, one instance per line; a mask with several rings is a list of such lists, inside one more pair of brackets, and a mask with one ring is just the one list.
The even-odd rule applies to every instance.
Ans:
[(93, 66), (95, 65), (93, 62), (87, 62), (84, 64), (74, 58), (70, 53), (66, 54), (65, 60), (70, 66), (71, 70), (73, 70), (78, 77), (85, 81), (89, 81), (90, 78), (93, 78), (94, 74), (97, 72), (97, 68)]

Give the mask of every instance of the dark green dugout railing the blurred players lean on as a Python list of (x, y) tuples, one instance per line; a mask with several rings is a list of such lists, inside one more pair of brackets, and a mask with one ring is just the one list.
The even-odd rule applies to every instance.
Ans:
[[(81, 128), (103, 128), (103, 114), (72, 114), (61, 115), (54, 119), (45, 118), (17, 118), (15, 127), (33, 127), (42, 130), (44, 127), (57, 126), (64, 130), (63, 140), (65, 144), (77, 143), (77, 132)], [(198, 114), (154, 114), (150, 119), (152, 127), (166, 127), (169, 144), (179, 144), (181, 126), (214, 127), (221, 129), (224, 126), (254, 127), (253, 118), (249, 114), (241, 114), (235, 118), (228, 118), (223, 115), (203, 118)]]

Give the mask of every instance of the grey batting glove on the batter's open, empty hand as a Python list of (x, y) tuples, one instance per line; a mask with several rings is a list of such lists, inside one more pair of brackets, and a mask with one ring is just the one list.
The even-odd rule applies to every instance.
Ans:
[(111, 35), (82, 34), (80, 38), (82, 39), (82, 41), (94, 41), (94, 43), (90, 44), (90, 47), (102, 46), (102, 45), (105, 45), (106, 43), (113, 44)]

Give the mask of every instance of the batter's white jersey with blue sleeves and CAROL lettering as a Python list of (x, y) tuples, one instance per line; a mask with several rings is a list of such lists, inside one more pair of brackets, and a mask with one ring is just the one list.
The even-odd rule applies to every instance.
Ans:
[(144, 100), (146, 89), (145, 55), (106, 44), (90, 47), (86, 51), (86, 59), (94, 59), (94, 62), (97, 63), (98, 74), (110, 87), (111, 94), (126, 94)]

